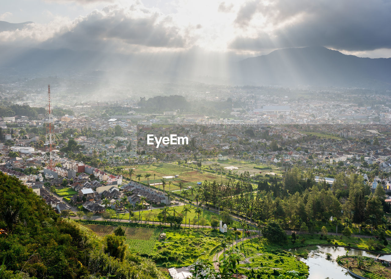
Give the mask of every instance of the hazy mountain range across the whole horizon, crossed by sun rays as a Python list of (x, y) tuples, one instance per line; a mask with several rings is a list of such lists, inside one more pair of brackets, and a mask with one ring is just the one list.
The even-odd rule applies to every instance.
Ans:
[(156, 82), (194, 80), (219, 83), (220, 78), (220, 83), (230, 85), (391, 88), (391, 58), (359, 58), (325, 47), (279, 49), (240, 61), (230, 57), (224, 68), (221, 67), (224, 60), (212, 56), (157, 53), (154, 57), (0, 46), (0, 74), (3, 77), (23, 74), (61, 76), (100, 70), (111, 77), (128, 73), (129, 78)]

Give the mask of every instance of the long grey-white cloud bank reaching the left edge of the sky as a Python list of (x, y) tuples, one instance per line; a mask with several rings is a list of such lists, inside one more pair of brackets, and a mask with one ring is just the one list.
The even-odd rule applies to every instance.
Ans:
[(0, 32), (0, 41), (53, 49), (127, 52), (140, 47), (186, 47), (187, 38), (181, 33), (170, 16), (135, 3), (106, 6), (75, 20), (58, 18), (46, 25), (34, 23), (19, 31)]

